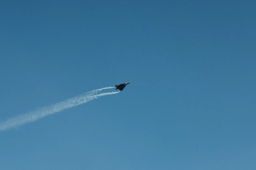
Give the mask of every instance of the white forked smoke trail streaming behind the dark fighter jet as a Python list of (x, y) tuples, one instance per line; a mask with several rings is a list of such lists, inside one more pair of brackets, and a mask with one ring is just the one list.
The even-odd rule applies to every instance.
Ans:
[(106, 87), (102, 89), (93, 90), (90, 92), (86, 92), (84, 94), (75, 96), (73, 98), (67, 99), (63, 102), (56, 103), (52, 106), (45, 106), (36, 110), (33, 110), (27, 114), (19, 115), (17, 117), (10, 118), (6, 121), (0, 122), (0, 131), (8, 130), (11, 128), (15, 128), (18, 126), (21, 126), (27, 122), (33, 122), (38, 119), (41, 119), (45, 116), (60, 112), (62, 110), (65, 110), (67, 108), (71, 108), (74, 106), (81, 105), (83, 103), (89, 102), (91, 100), (97, 99), (100, 96), (105, 95), (111, 95), (116, 94), (118, 92), (107, 92), (107, 93), (100, 93), (97, 94), (97, 92), (104, 90), (104, 89), (111, 89), (114, 87)]

